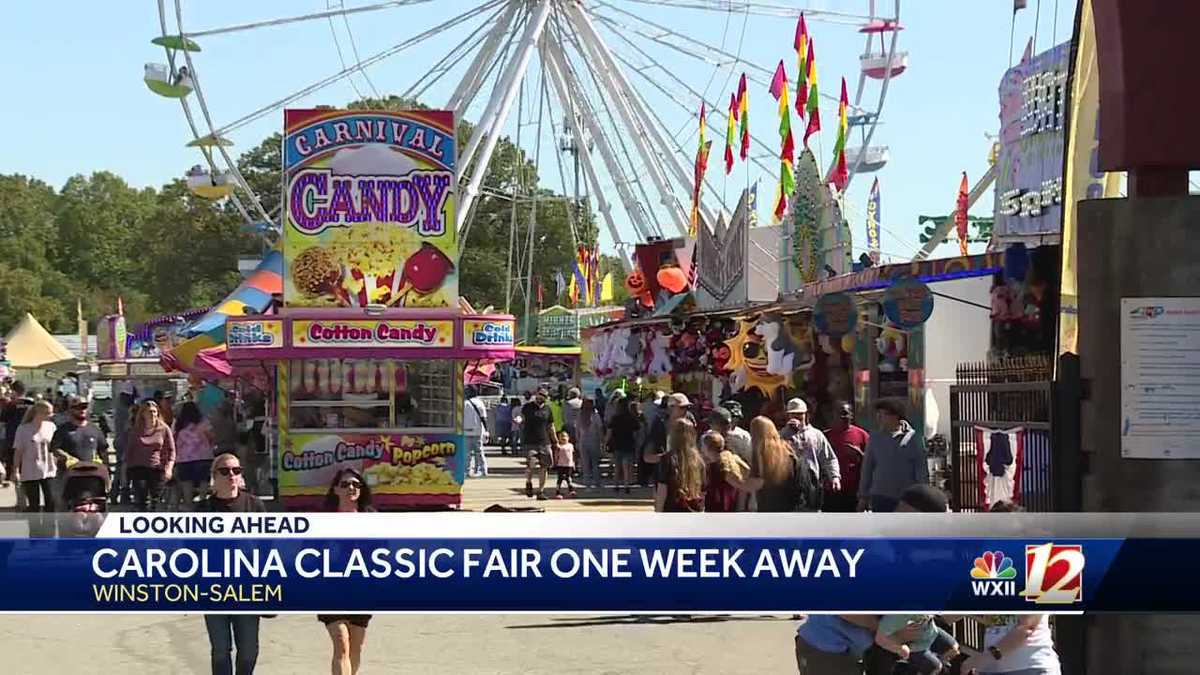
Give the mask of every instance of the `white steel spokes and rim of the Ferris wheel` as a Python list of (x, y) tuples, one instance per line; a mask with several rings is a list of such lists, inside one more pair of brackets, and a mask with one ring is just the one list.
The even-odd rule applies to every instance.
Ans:
[[(168, 1), (173, 5), (173, 11), (168, 11)], [(180, 98), (180, 106), (193, 139), (222, 138), (229, 131), (265, 114), (270, 114), (274, 110), (282, 109), (287, 104), (342, 79), (349, 79), (353, 85), (352, 76), (354, 73), (362, 77), (378, 96), (379, 94), (374, 88), (374, 83), (366, 73), (368, 66), (491, 12), (474, 32), (452, 47), (438, 61), (433, 70), (440, 68), (440, 72), (437, 74), (432, 74), (432, 71), (424, 73), (404, 92), (406, 96), (419, 96), (458, 62), (455, 60), (456, 58), (460, 60), (464, 59), (474, 50), (467, 71), (445, 103), (448, 109), (456, 112), (467, 110), (478, 92), (485, 89), (488, 78), (494, 73), (496, 80), (491, 89), (491, 95), (464, 150), (458, 157), (460, 201), (456, 227), (460, 240), (466, 241), (470, 232), (474, 205), (480, 195), (485, 192), (482, 189), (484, 177), (487, 173), (502, 132), (508, 124), (512, 104), (524, 91), (523, 88), (529, 72), (529, 64), (533, 61), (533, 56), (538, 55), (541, 64), (541, 77), (539, 77), (540, 82), (538, 84), (539, 91), (535, 97), (539, 110), (539, 150), (542, 102), (548, 108), (550, 101), (553, 98), (557, 100), (559, 110), (563, 113), (566, 123), (569, 123), (569, 129), (564, 131), (574, 143), (584, 183), (589, 187), (592, 198), (595, 199), (600, 220), (605, 223), (618, 250), (623, 250), (624, 253), (628, 252), (630, 243), (622, 235), (622, 229), (618, 227), (617, 220), (612, 214), (612, 204), (608, 201), (608, 195), (606, 195), (607, 190), (601, 183), (601, 177), (596, 171), (596, 165), (604, 166), (605, 172), (613, 184), (612, 192), (616, 192), (617, 199), (622, 203), (634, 233), (642, 240), (647, 237), (668, 237), (688, 232), (690, 205), (685, 199), (680, 198), (680, 195), (689, 195), (691, 192), (694, 180), (690, 168), (684, 163), (684, 157), (688, 156), (688, 153), (683, 149), (676, 135), (671, 133), (670, 129), (666, 127), (654, 108), (647, 103), (644, 96), (634, 85), (634, 82), (629, 79), (626, 70), (636, 73), (640, 82), (649, 84), (661, 95), (666, 96), (674, 106), (689, 113), (694, 112), (696, 98), (706, 98), (704, 92), (697, 91), (689, 83), (679, 78), (677, 73), (664, 67), (644, 48), (638, 46), (634, 41), (634, 36), (694, 59), (710, 62), (715, 68), (722, 66), (743, 66), (746, 70), (748, 78), (756, 84), (763, 84), (766, 82), (764, 78), (769, 78), (773, 72), (742, 58), (739, 54), (700, 42), (668, 26), (623, 10), (611, 0), (486, 0), (424, 32), (406, 37), (391, 48), (366, 59), (359, 56), (358, 46), (354, 43), (353, 32), (347, 19), (348, 16), (420, 5), (430, 1), (432, 0), (391, 0), (346, 7), (343, 0), (338, 0), (338, 6), (335, 8), (332, 2), (326, 0), (326, 11), (324, 12), (188, 31), (185, 29), (184, 23), (184, 0), (157, 0), (158, 23), (163, 37), (181, 36), (185, 38), (197, 38), (296, 22), (326, 19), (330, 22), (338, 59), (342, 61), (342, 71), (319, 79), (283, 98), (268, 103), (232, 123), (217, 125), (209, 110), (202, 80), (191, 53), (182, 49), (164, 48), (172, 71), (175, 71), (176, 61), (182, 58), (192, 79), (192, 95), (196, 97), (196, 104), (203, 118), (203, 126), (198, 124), (188, 97)], [(761, 14), (794, 18), (800, 12), (804, 12), (810, 20), (824, 20), (846, 25), (858, 25), (864, 19), (874, 20), (880, 18), (875, 12), (875, 0), (869, 0), (869, 14), (787, 7), (761, 0), (626, 1), (641, 5), (712, 12), (738, 11), (744, 12), (748, 17), (750, 14)], [(899, 25), (900, 0), (893, 0), (893, 14), (884, 20), (895, 22)], [(350, 37), (353, 64), (347, 64), (343, 56), (341, 43), (337, 40), (337, 31), (332, 25), (334, 18), (341, 18), (346, 24), (346, 32)], [(170, 19), (174, 20), (172, 22)], [(622, 53), (612, 49), (600, 34), (598, 24), (608, 29), (628, 49), (636, 53), (637, 56), (634, 56), (629, 52)], [(484, 31), (485, 26), (488, 26), (486, 35), (481, 40), (475, 40)], [(887, 62), (892, 62), (898, 53), (899, 30), (890, 32), (892, 38), (887, 52)], [(866, 35), (866, 53), (870, 52), (871, 37), (872, 34)], [(643, 60), (644, 65), (641, 67), (637, 66), (634, 62), (636, 58)], [(581, 73), (580, 71), (586, 72)], [(648, 74), (648, 71), (660, 72), (671, 84), (664, 85), (660, 79)], [(584, 74), (589, 77), (584, 79)], [(426, 82), (426, 78), (430, 78), (428, 82)], [(858, 86), (851, 102), (851, 109), (856, 114), (866, 113), (869, 121), (863, 135), (858, 159), (853, 166), (848, 167), (851, 180), (858, 173), (866, 157), (866, 148), (870, 145), (875, 136), (875, 130), (878, 126), (890, 79), (892, 71), (888, 70), (882, 78), (874, 110), (869, 110), (863, 107), (866, 74), (865, 72), (859, 72)], [(354, 85), (354, 88), (358, 91), (358, 86)], [(601, 115), (601, 110), (596, 109), (593, 104), (593, 97), (588, 96), (589, 91), (600, 92), (599, 101), (604, 107), (604, 117)], [(836, 97), (829, 94), (822, 94), (822, 97), (836, 100)], [(709, 106), (708, 109), (714, 110), (714, 114), (721, 114), (715, 112), (720, 110), (720, 104)], [(616, 125), (619, 120), (620, 125), (629, 133), (610, 133), (605, 126), (605, 120), (613, 129), (617, 129)], [(719, 130), (710, 124), (709, 120), (706, 119), (704, 121), (706, 126), (713, 133), (720, 136), (724, 132), (724, 130)], [(520, 135), (520, 120), (517, 126), (517, 133)], [(629, 138), (629, 143), (625, 142), (626, 137)], [(593, 143), (596, 150), (595, 155), (590, 150)], [(757, 136), (752, 136), (752, 143), (754, 148), (763, 154), (761, 156), (751, 155), (749, 160), (763, 169), (768, 177), (778, 177), (778, 167), (772, 167), (769, 162), (763, 162), (763, 157), (773, 157), (775, 155), (775, 149), (768, 147)], [(235, 159), (230, 156), (223, 144), (202, 145), (199, 149), (204, 156), (204, 162), (211, 172), (226, 172), (239, 187), (242, 195), (239, 195), (239, 190), (235, 190), (229, 197), (242, 217), (247, 222), (266, 222), (277, 228), (278, 223), (275, 217), (272, 214), (266, 213), (258, 195), (246, 183)], [(535, 157), (534, 161), (536, 162), (538, 159)], [(641, 172), (637, 171), (638, 163), (642, 168)], [(716, 214), (720, 213), (727, 217), (730, 209), (722, 203), (718, 211), (714, 211), (712, 201), (720, 201), (716, 197), (720, 192), (714, 190), (713, 185), (707, 180), (706, 185), (708, 186), (708, 202), (702, 202), (701, 214), (706, 222), (715, 223)], [(534, 190), (535, 193), (536, 191)], [(509, 198), (517, 199), (517, 195), (514, 193)]]

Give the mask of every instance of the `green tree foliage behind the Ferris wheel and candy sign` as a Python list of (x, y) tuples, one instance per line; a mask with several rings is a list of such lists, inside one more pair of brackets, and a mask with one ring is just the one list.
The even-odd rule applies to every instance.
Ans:
[[(388, 96), (349, 107), (425, 106)], [(457, 123), (460, 147), (472, 131), (469, 123)], [(281, 148), (282, 137), (275, 133), (238, 159), (239, 171), (275, 221), (283, 190)], [(553, 161), (551, 153), (542, 153), (542, 162)], [(520, 251), (529, 249), (534, 228), (533, 288), (542, 285), (545, 306), (554, 301), (556, 271), (570, 274), (576, 243), (596, 240), (595, 220), (586, 205), (575, 205), (569, 214), (569, 199), (539, 189), (534, 213), (530, 190), (538, 184), (533, 157), (500, 138), (461, 250), (460, 293), (479, 307), (505, 306), (514, 223)], [(253, 213), (250, 202), (244, 203)], [(571, 215), (577, 221), (574, 234)], [(233, 204), (198, 198), (181, 179), (137, 189), (118, 175), (96, 172), (72, 177), (55, 191), (34, 178), (0, 175), (0, 334), (26, 311), (53, 331), (74, 331), (77, 304), (95, 319), (114, 311), (118, 298), (133, 323), (211, 305), (239, 283), (238, 257), (258, 255), (262, 247)], [(614, 270), (614, 289), (623, 299), (619, 259), (606, 257), (602, 268)], [(516, 268), (511, 276), (524, 274)], [(514, 291), (512, 313), (524, 310), (522, 293)], [(536, 310), (536, 295), (532, 309)]]

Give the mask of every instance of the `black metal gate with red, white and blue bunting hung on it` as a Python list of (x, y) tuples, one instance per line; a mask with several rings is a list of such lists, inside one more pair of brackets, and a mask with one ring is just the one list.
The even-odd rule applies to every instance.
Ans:
[(982, 430), (1025, 430), (1019, 502), (1055, 510), (1051, 467), (1052, 365), (1046, 357), (961, 364), (950, 387), (950, 501), (954, 510), (982, 510)]

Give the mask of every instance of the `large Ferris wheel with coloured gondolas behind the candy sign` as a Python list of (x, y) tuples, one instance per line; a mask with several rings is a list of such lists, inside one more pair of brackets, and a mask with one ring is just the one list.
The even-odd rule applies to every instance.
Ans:
[[(770, 108), (763, 98), (774, 67), (748, 55), (749, 42), (763, 25), (796, 22), (803, 12), (810, 25), (820, 26), (820, 40), (826, 43), (865, 35), (859, 64), (826, 61), (824, 66), (826, 72), (858, 71), (847, 115), (857, 132), (847, 142), (851, 177), (877, 171), (888, 161), (887, 147), (871, 143), (888, 85), (907, 67), (907, 54), (896, 47), (899, 0), (889, 2), (889, 16), (876, 11), (875, 0), (853, 4), (859, 12), (768, 0), (481, 0), (469, 6), (434, 5), (433, 0), (307, 1), (308, 11), (294, 16), (198, 25), (190, 17), (204, 13), (199, 6), (210, 4), (157, 0), (160, 34), (152, 42), (163, 49), (164, 61), (148, 64), (144, 73), (151, 91), (180, 103), (190, 130), (185, 142), (200, 156), (187, 174), (191, 190), (205, 198), (228, 199), (251, 227), (268, 237), (278, 231), (280, 214), (266, 207), (272, 199), (247, 183), (230, 148), (257, 145), (263, 135), (260, 124), (256, 132), (256, 124), (278, 119), (284, 107), (400, 95), (454, 109), (458, 119), (475, 123), (470, 137), (460, 139), (456, 226), (461, 245), (468, 245), (481, 199), (535, 203), (547, 198), (538, 197), (533, 185), (524, 186), (526, 193), (517, 189), (503, 193), (484, 185), (497, 143), (508, 136), (535, 167), (557, 165), (562, 195), (568, 193), (570, 173), (564, 162), (574, 162), (576, 185), (582, 175), (583, 193), (612, 244), (623, 250), (647, 238), (688, 231), (695, 154), (689, 148), (695, 148), (695, 113), (702, 101), (708, 110), (704, 124), (715, 138), (724, 136), (724, 98), (738, 73), (744, 72), (761, 91), (757, 109)], [(415, 20), (446, 5), (455, 8), (443, 20), (428, 26)], [(248, 11), (259, 7), (253, 4)], [(694, 37), (691, 26), (701, 20), (724, 24), (720, 40)], [(230, 94), (230, 83), (221, 76), (208, 77), (208, 59), (214, 54), (253, 60), (257, 35), (311, 30), (319, 24), (328, 24), (326, 47), (336, 52), (337, 62), (331, 72), (301, 86), (271, 90), (271, 83), (264, 83), (260, 100), (246, 100), (244, 94)], [(390, 37), (368, 46), (379, 43), (379, 36)], [(294, 48), (311, 49), (312, 44), (298, 41)], [(408, 62), (416, 53), (439, 58), (430, 56), (412, 70), (386, 67), (389, 61)], [(832, 90), (822, 91), (822, 106), (836, 106)], [(678, 124), (685, 115), (691, 115), (692, 124)], [(775, 181), (779, 141), (768, 132), (774, 123), (761, 112), (756, 119), (748, 162), (758, 179)], [(547, 181), (544, 175), (542, 183)], [(728, 217), (732, 209), (712, 178), (706, 187), (703, 220), (715, 223), (719, 216)]]

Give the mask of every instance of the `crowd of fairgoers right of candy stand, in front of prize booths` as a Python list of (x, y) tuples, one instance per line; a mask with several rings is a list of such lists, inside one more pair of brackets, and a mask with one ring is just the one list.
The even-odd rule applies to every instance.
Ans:
[[(554, 471), (554, 498), (576, 496), (576, 485), (618, 494), (640, 485), (666, 490), (656, 500), (666, 510), (890, 512), (905, 488), (929, 480), (924, 443), (898, 404), (876, 405), (874, 435), (856, 424), (851, 404), (835, 410), (822, 430), (798, 398), (782, 419), (746, 420), (733, 400), (697, 416), (683, 393), (637, 401), (619, 389), (584, 398), (572, 388), (556, 401), (540, 387), (500, 402), (493, 437), (502, 454), (526, 459), (526, 495), (538, 500), (551, 498), (546, 479)], [(485, 418), (468, 400), (472, 458), (484, 455), (486, 430), (470, 430), (485, 428)], [(486, 476), (486, 460), (473, 459), (469, 476)]]

